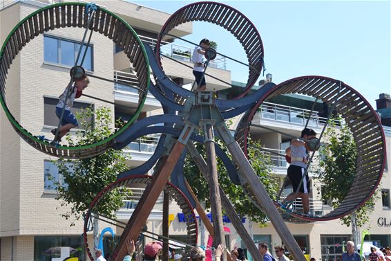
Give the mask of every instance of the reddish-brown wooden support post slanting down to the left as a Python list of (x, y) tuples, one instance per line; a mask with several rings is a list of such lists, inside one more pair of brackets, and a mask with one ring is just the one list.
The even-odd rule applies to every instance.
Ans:
[(155, 206), (155, 202), (158, 200), (160, 193), (171, 175), (171, 172), (178, 162), (183, 149), (184, 144), (177, 141), (169, 156), (163, 156), (158, 161), (151, 183), (146, 186), (133, 215), (129, 219), (128, 224), (122, 233), (120, 242), (115, 247), (109, 261), (122, 261), (124, 255), (126, 255), (126, 240), (128, 238), (131, 238), (134, 241), (137, 240), (137, 237), (140, 235), (153, 206)]

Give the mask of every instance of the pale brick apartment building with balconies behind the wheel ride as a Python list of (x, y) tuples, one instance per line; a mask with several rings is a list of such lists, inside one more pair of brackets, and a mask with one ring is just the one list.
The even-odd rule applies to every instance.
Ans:
[[(23, 17), (30, 15), (35, 10), (47, 6), (55, 1), (3, 1), (0, 4), (0, 43), (2, 44), (12, 27)], [(146, 6), (140, 6), (128, 1), (99, 1), (99, 5), (108, 8), (111, 12), (120, 15), (130, 24), (142, 39), (142, 42), (151, 44), (156, 42), (160, 28), (162, 28), (170, 14), (153, 10)], [(183, 24), (175, 28), (174, 35), (179, 37), (192, 33), (191, 23)], [(77, 28), (61, 28), (51, 30), (39, 35), (30, 42), (12, 63), (8, 84), (8, 106), (17, 120), (30, 132), (50, 136), (50, 129), (57, 126), (57, 118), (54, 115), (54, 107), (57, 97), (64, 90), (69, 80), (69, 69), (75, 62), (75, 53), (82, 39), (84, 31)], [(162, 52), (175, 60), (191, 65), (189, 53), (193, 46), (181, 46), (175, 44), (173, 38), (164, 39)], [(126, 59), (126, 55), (120, 52), (117, 46), (103, 35), (94, 34), (89, 51), (86, 56), (86, 69), (94, 75), (113, 79), (117, 84), (92, 80), (86, 89), (86, 94), (104, 97), (114, 105), (81, 98), (75, 102), (76, 109), (82, 109), (93, 105), (111, 107), (114, 118), (121, 117), (126, 120), (133, 113), (128, 107), (134, 107), (138, 102), (138, 95), (134, 89), (123, 83), (134, 83), (135, 75)], [(231, 73), (225, 68), (224, 59), (216, 64), (211, 64), (209, 73), (219, 75), (222, 80), (231, 82)], [(178, 66), (172, 60), (165, 59), (162, 64), (166, 75), (179, 84), (187, 85), (193, 82), (191, 69)], [(240, 91), (243, 84), (232, 82), (234, 87), (227, 86), (216, 80), (210, 80), (208, 87), (219, 92), (220, 97), (229, 97), (233, 91)], [(257, 87), (254, 87), (257, 88)], [(33, 91), (32, 91), (33, 90)], [(308, 114), (314, 100), (303, 96), (284, 96), (265, 102), (258, 111), (254, 120), (258, 124), (276, 128), (281, 132), (289, 132), (300, 135), (305, 123), (299, 114)], [(322, 114), (322, 105), (316, 107), (316, 111), (309, 123), (317, 132), (320, 132), (325, 123)], [(381, 111), (382, 117), (386, 117), (387, 108)], [(269, 111), (274, 111), (271, 113)], [(160, 114), (161, 105), (151, 94), (146, 98), (140, 118)], [(236, 119), (238, 120), (238, 119)], [(386, 123), (383, 123), (386, 125)], [(234, 125), (233, 125), (234, 127)], [(264, 146), (275, 152), (283, 152), (289, 145), (287, 136), (274, 132), (260, 132), (252, 130), (251, 135), (260, 139)], [(73, 131), (73, 133), (75, 133)], [(391, 143), (391, 127), (385, 126), (385, 134), (388, 147)], [(149, 159), (158, 143), (159, 136), (142, 137), (129, 143), (124, 150), (131, 155), (128, 161), (130, 168), (137, 167)], [(0, 260), (60, 260), (59, 247), (70, 246), (68, 251), (79, 258), (86, 260), (84, 242), (81, 236), (83, 231), (82, 221), (76, 222), (70, 227), (70, 222), (61, 217), (66, 209), (59, 207), (59, 201), (53, 190), (53, 181), (46, 178), (45, 172), (56, 173), (55, 166), (50, 160), (53, 157), (38, 152), (24, 142), (12, 129), (6, 116), (0, 112)], [(284, 177), (287, 170), (285, 159), (280, 156), (271, 156), (274, 171)], [(390, 161), (390, 159), (388, 159)], [(388, 162), (388, 165), (390, 163)], [(57, 179), (61, 181), (61, 177)], [(390, 177), (389, 170), (385, 170), (381, 189), (383, 197), (376, 203), (374, 213), (371, 216), (370, 238), (368, 240), (382, 246), (390, 245)], [(134, 188), (134, 198), (128, 201), (137, 201), (143, 188)], [(287, 190), (287, 192), (289, 192)], [(312, 208), (322, 213), (330, 206), (312, 195)], [(124, 207), (118, 212), (118, 217), (126, 221), (133, 213), (134, 206), (124, 202)], [(300, 208), (300, 206), (297, 206)], [(170, 213), (170, 236), (176, 240), (186, 237), (186, 222), (181, 215), (180, 208), (172, 203)], [(258, 224), (243, 219), (245, 226), (254, 242), (268, 242), (270, 246), (281, 244), (276, 231), (267, 224), (260, 228)], [(245, 247), (240, 238), (225, 218), (225, 225), (231, 229), (226, 233), (226, 241), (230, 248), (234, 246)], [(103, 229), (108, 224), (101, 224)], [(162, 199), (160, 198), (147, 222), (148, 230), (162, 233)], [(343, 226), (338, 220), (331, 222), (315, 222), (312, 224), (288, 224), (292, 234), (305, 253), (317, 260), (330, 260), (342, 252), (342, 244), (351, 237), (352, 229)], [(113, 227), (115, 230), (115, 227)], [(333, 229), (330, 229), (333, 228)], [(199, 244), (206, 244), (207, 232), (200, 224)], [(120, 231), (116, 231), (117, 235)], [(92, 235), (89, 240), (92, 240)], [(367, 240), (367, 239), (365, 239)], [(92, 241), (89, 243), (91, 244)], [(57, 248), (57, 249), (56, 249)], [(73, 250), (74, 249), (74, 250)], [(109, 251), (110, 246), (106, 240), (104, 250)], [(57, 258), (57, 259), (56, 259)], [(251, 257), (249, 257), (251, 259)]]

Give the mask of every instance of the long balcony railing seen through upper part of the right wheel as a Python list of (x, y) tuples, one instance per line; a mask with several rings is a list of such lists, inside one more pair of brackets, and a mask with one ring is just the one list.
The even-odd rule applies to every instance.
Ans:
[(327, 118), (319, 116), (318, 111), (311, 112), (308, 109), (277, 105), (271, 102), (263, 102), (258, 111), (260, 118), (298, 125), (305, 125), (309, 118), (309, 127), (321, 127), (327, 121)]

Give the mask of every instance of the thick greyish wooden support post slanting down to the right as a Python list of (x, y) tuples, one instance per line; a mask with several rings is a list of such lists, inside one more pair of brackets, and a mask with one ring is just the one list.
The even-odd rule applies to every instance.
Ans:
[(236, 141), (233, 141), (229, 143), (227, 147), (229, 152), (231, 152), (233, 161), (235, 161), (236, 165), (240, 168), (241, 173), (247, 180), (247, 183), (249, 183), (256, 200), (260, 206), (262, 206), (267, 217), (269, 217), (271, 224), (276, 228), (278, 235), (280, 235), (285, 246), (287, 246), (289, 253), (293, 255), (294, 260), (305, 260), (303, 251), (301, 251), (293, 235), (290, 233), (284, 219), (280, 216), (280, 213), (278, 213), (276, 206), (274, 206), (273, 201), (271, 201), (263, 183), (260, 182), (239, 144)]

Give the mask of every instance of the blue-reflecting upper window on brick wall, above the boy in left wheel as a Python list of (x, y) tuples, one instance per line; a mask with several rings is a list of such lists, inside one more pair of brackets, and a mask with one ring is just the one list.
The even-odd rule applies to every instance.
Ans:
[[(44, 61), (73, 67), (79, 53), (82, 43), (60, 39), (57, 37), (44, 36)], [(82, 61), (86, 44), (83, 44), (82, 53), (79, 57), (79, 63)], [(84, 58), (83, 67), (87, 71), (93, 71), (93, 46), (89, 45)]]

